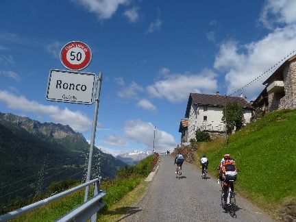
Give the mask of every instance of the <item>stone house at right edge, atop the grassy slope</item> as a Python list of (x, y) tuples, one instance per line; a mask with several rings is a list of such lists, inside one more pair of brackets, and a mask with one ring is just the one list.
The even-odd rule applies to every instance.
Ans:
[(266, 92), (263, 90), (255, 100), (255, 108), (264, 103), (267, 112), (296, 109), (296, 56), (288, 58), (263, 84)]

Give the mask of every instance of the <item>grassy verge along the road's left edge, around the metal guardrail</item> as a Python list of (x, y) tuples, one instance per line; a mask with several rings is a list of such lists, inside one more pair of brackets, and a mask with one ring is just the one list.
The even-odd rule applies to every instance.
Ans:
[[(136, 188), (141, 182), (143, 183), (144, 178), (147, 177), (151, 172), (151, 169), (153, 169), (153, 162), (155, 162), (156, 158), (158, 158), (158, 156), (148, 156), (134, 166), (127, 166), (119, 170), (114, 180), (101, 182), (101, 189), (106, 191), (106, 196), (103, 198), (106, 206), (99, 211), (99, 218), (102, 217), (102, 214), (105, 219), (108, 218), (106, 217), (106, 214), (112, 214), (110, 213), (110, 208), (116, 204), (116, 202), (123, 199), (127, 193), (134, 190), (134, 188)], [(78, 184), (75, 184), (75, 186), (77, 185)], [(90, 188), (90, 190), (92, 189)], [(84, 189), (58, 201), (54, 201), (51, 204), (42, 206), (32, 212), (28, 212), (13, 221), (54, 221), (62, 217), (66, 212), (81, 205), (83, 201)], [(126, 210), (128, 209), (126, 208)], [(123, 209), (123, 212), (126, 210)]]

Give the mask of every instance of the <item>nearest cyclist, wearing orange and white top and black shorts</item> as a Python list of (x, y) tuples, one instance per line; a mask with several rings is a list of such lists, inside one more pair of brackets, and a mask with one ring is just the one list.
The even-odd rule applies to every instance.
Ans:
[[(236, 175), (237, 175), (237, 169), (236, 169), (236, 164), (234, 160), (232, 159), (227, 159), (223, 162), (223, 165), (220, 169), (219, 173), (219, 179), (221, 180), (223, 184), (223, 194), (224, 194), (224, 201), (223, 201), (223, 208), (226, 207), (227, 204), (227, 189), (228, 186), (232, 189), (234, 192), (234, 184), (233, 181), (236, 180)], [(230, 182), (232, 180), (232, 182)]]

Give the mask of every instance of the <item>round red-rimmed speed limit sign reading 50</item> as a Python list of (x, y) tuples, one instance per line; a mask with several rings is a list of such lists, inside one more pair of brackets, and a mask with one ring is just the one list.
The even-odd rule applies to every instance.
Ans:
[(71, 70), (82, 70), (90, 64), (92, 53), (88, 45), (84, 42), (74, 41), (69, 42), (60, 53), (62, 64)]

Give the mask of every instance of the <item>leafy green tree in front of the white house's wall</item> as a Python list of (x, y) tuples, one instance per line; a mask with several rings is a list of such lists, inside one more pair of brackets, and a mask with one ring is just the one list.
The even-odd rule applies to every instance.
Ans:
[(227, 103), (223, 107), (222, 121), (225, 122), (225, 119), (227, 128), (240, 130), (240, 128), (243, 127), (243, 122), (245, 121), (243, 116), (243, 107), (238, 105), (237, 102)]

